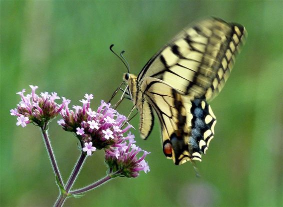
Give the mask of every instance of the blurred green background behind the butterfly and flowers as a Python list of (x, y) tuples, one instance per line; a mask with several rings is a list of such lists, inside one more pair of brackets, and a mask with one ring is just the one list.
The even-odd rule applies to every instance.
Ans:
[[(157, 121), (147, 141), (150, 172), (117, 178), (68, 199), (72, 207), (218, 207), (283, 205), (283, 1), (0, 1), (0, 206), (52, 206), (58, 196), (39, 128), (16, 127), (9, 115), (22, 88), (57, 92), (78, 105), (107, 101), (126, 72), (109, 51), (125, 50), (131, 72), (190, 22), (206, 16), (243, 24), (248, 38), (221, 93), (210, 103), (215, 136), (197, 167), (165, 159)], [(132, 103), (118, 111), (127, 115)], [(157, 120), (157, 119), (156, 119)], [(131, 124), (138, 128), (138, 116)], [(76, 139), (54, 120), (49, 135), (64, 181), (78, 156)], [(105, 175), (95, 152), (74, 188)]]

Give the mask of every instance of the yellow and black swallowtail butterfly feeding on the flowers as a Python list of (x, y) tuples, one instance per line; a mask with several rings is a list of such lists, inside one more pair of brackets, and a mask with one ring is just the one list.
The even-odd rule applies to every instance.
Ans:
[(214, 136), (216, 118), (210, 105), (231, 72), (245, 28), (210, 17), (185, 27), (165, 44), (137, 76), (123, 74), (140, 115), (139, 131), (146, 139), (156, 112), (162, 149), (175, 165), (201, 161)]

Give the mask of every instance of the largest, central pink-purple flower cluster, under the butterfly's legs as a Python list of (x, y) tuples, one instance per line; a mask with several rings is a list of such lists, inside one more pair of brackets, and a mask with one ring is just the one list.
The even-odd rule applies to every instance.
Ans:
[[(65, 109), (60, 113), (63, 119), (58, 124), (63, 130), (75, 133), (82, 150), (88, 155), (95, 149), (121, 147), (123, 133), (132, 127), (126, 122), (126, 117), (104, 101), (96, 111), (92, 111), (89, 105), (93, 95), (85, 94), (84, 98), (80, 100), (82, 106), (73, 106), (74, 110), (69, 110), (69, 102), (66, 102)], [(125, 124), (126, 127), (123, 127)]]

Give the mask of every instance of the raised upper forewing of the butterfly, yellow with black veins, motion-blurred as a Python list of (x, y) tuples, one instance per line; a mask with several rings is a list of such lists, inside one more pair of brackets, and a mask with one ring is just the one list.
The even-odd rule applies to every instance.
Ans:
[(223, 87), (246, 34), (237, 23), (208, 18), (184, 28), (137, 76), (163, 80), (179, 93), (211, 100)]

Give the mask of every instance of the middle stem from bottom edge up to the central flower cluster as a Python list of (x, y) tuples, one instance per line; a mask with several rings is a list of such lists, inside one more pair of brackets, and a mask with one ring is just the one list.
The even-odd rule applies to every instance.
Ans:
[(69, 177), (69, 180), (66, 184), (66, 188), (65, 188), (65, 193), (64, 194), (61, 194), (59, 196), (59, 198), (57, 199), (56, 203), (54, 204), (54, 207), (61, 207), (65, 201), (65, 199), (67, 198), (67, 196), (69, 195), (68, 192), (71, 188), (71, 186), (73, 185), (75, 179), (77, 178), (77, 175), (79, 173), (79, 170), (80, 168), (82, 167), (82, 164), (84, 163), (85, 161), (85, 158), (86, 158), (86, 155), (85, 153), (81, 153), (70, 177)]

